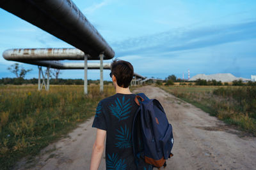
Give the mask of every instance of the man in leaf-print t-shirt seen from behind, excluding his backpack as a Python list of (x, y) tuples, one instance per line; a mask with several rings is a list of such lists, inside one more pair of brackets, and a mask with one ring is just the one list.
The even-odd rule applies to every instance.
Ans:
[(116, 94), (100, 101), (92, 127), (97, 128), (90, 169), (98, 169), (106, 139), (106, 169), (152, 169), (143, 159), (138, 166), (132, 150), (132, 122), (138, 105), (129, 85), (133, 77), (130, 62), (114, 60), (110, 76)]

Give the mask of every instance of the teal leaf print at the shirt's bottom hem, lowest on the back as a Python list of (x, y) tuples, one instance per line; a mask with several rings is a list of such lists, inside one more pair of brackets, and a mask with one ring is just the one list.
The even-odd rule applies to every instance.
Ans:
[(113, 153), (112, 156), (108, 154), (108, 158), (106, 160), (107, 169), (126, 169), (127, 164), (125, 164), (125, 159), (118, 159), (117, 153)]

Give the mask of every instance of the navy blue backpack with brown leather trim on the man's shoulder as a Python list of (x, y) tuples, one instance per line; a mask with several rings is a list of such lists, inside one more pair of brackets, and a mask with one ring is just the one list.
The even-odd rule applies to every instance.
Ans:
[(135, 97), (135, 102), (139, 105), (132, 125), (135, 162), (138, 166), (141, 157), (154, 167), (166, 167), (166, 159), (173, 156), (173, 133), (163, 106), (142, 93)]

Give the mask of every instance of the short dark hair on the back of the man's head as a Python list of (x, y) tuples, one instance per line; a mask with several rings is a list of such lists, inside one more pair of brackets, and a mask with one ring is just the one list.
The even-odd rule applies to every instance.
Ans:
[(111, 63), (111, 73), (115, 75), (119, 87), (127, 88), (133, 78), (133, 66), (125, 60), (115, 59)]

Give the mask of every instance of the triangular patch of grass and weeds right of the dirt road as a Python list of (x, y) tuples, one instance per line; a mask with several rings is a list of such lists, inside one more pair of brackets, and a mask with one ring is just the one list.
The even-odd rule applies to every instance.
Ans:
[(163, 87), (211, 116), (256, 136), (256, 87)]

